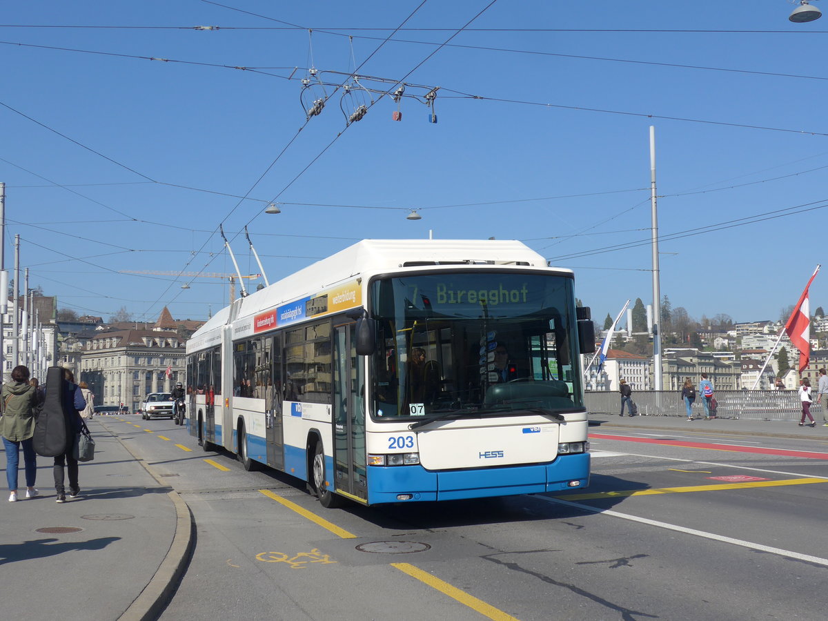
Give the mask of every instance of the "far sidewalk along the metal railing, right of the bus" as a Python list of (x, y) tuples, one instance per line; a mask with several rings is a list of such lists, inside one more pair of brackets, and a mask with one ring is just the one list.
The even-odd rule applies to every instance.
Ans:
[(684, 416), (618, 416), (617, 414), (590, 414), (590, 433), (610, 429), (646, 429), (677, 433), (703, 431), (721, 436), (758, 436), (792, 439), (828, 440), (828, 427), (822, 426), (821, 416), (814, 416), (816, 427), (798, 426), (797, 421), (759, 421), (746, 418), (714, 418), (705, 421), (704, 416), (687, 421)]

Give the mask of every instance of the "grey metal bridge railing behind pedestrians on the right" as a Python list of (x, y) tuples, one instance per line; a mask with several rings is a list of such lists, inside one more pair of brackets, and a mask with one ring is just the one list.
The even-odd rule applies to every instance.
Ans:
[[(792, 421), (802, 416), (799, 392), (793, 390), (717, 390), (716, 416), (719, 418), (747, 418), (758, 421)], [(691, 411), (704, 416), (703, 397), (696, 397)], [(595, 414), (619, 414), (619, 392), (588, 391), (584, 393), (586, 411)], [(633, 402), (642, 416), (687, 416), (681, 393), (672, 390), (633, 392)], [(822, 417), (825, 404), (811, 404), (811, 416)], [(627, 414), (625, 408), (624, 414)], [(817, 416), (818, 415), (818, 416)]]

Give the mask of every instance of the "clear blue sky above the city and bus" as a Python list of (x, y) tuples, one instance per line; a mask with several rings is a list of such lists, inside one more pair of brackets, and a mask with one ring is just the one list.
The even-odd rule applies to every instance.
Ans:
[[(361, 238), (431, 230), (524, 241), (575, 270), (603, 322), (652, 301), (654, 125), (662, 295), (740, 321), (797, 301), (828, 243), (828, 17), (792, 24), (783, 0), (488, 5), (7, 3), (7, 268), (19, 233), (30, 286), (60, 307), (205, 319), (226, 283), (119, 272), (233, 272), (219, 224), (251, 274), (248, 226), (271, 281)], [(327, 85), (302, 94), (311, 67)], [(401, 122), (389, 96), (335, 90), (355, 68), (388, 80), (367, 89), (410, 84)], [(282, 214), (262, 213), (272, 200)], [(812, 310), (826, 291), (828, 270)]]

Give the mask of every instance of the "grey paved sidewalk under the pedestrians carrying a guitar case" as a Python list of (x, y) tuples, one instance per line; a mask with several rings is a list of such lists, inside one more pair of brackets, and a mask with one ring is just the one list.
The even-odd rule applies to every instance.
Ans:
[(78, 498), (55, 503), (52, 459), (39, 456), (41, 495), (26, 499), (22, 451), (22, 499), (7, 502), (7, 491), (0, 497), (0, 584), (9, 616), (154, 619), (181, 578), (192, 543), (189, 509), (98, 417), (89, 430), (95, 459), (79, 465)]

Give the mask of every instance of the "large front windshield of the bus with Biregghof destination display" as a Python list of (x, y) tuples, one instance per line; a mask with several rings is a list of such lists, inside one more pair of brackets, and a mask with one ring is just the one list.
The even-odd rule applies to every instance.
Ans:
[(571, 277), (442, 272), (374, 280), (371, 415), (583, 411)]

